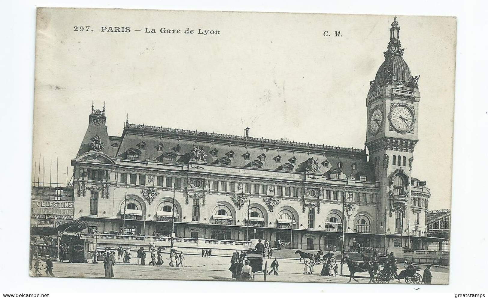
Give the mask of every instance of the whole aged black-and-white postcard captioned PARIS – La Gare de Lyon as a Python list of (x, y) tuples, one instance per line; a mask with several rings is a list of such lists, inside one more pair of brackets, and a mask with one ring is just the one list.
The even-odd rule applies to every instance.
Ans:
[(30, 275), (447, 284), (456, 19), (38, 8)]

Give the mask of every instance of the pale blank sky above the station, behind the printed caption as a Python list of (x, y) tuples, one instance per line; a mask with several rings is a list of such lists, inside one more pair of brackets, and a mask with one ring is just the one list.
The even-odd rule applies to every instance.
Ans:
[[(456, 22), (397, 17), (403, 57), (412, 75), (421, 76), (412, 176), (427, 180), (429, 209), (450, 208)], [(109, 135), (122, 134), (128, 114), (136, 124), (235, 135), (250, 127), (253, 137), (362, 149), (369, 81), (384, 61), (392, 21), (372, 15), (41, 11), (33, 168), (43, 161), (44, 175), (41, 166), (33, 177), (71, 177), (92, 100), (96, 109), (105, 103)], [(74, 31), (81, 25), (94, 31)], [(131, 32), (101, 32), (109, 26)], [(144, 33), (146, 27), (157, 33)], [(182, 33), (159, 33), (162, 27)], [(220, 34), (184, 34), (186, 28)], [(334, 37), (335, 31), (342, 36)]]

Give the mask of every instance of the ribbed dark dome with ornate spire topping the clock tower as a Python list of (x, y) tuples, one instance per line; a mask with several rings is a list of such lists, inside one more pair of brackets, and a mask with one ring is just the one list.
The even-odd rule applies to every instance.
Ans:
[(388, 50), (384, 52), (385, 62), (381, 64), (380, 68), (376, 72), (374, 78), (375, 85), (390, 84), (393, 81), (409, 82), (411, 78), (410, 69), (407, 62), (403, 59), (402, 45), (398, 33), (400, 27), (396, 21), (391, 23), (390, 28), (390, 41), (388, 42)]

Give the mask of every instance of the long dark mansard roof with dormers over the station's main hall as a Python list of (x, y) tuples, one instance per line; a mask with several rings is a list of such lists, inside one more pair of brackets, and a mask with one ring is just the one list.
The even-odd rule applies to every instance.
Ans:
[[(145, 143), (144, 148), (139, 146), (142, 142)], [(158, 150), (160, 145), (163, 145), (163, 150)], [(172, 154), (175, 157), (175, 163), (185, 164), (189, 162), (189, 152), (194, 149), (194, 146), (203, 148), (203, 152), (207, 154), (206, 161), (208, 164), (252, 168), (256, 162), (259, 162), (263, 164), (260, 167), (263, 169), (285, 170), (283, 168), (284, 164), (295, 157), (296, 164), (293, 171), (303, 172), (305, 171), (307, 160), (314, 158), (321, 165), (319, 169), (321, 173), (327, 172), (332, 168), (332, 165), (337, 165), (339, 162), (342, 162), (343, 171), (347, 177), (356, 176), (358, 172), (365, 172), (368, 176), (368, 181), (375, 180), (374, 169), (366, 161), (366, 152), (364, 149), (341, 148), (138, 124), (125, 125), (122, 133), (122, 141), (114, 157), (127, 159), (127, 151), (138, 149), (141, 152), (139, 155), (140, 161), (156, 160), (163, 163), (164, 157)], [(231, 158), (226, 154), (229, 151), (234, 152)], [(210, 152), (216, 152), (217, 154), (216, 156), (212, 156)], [(246, 152), (249, 152), (249, 159), (244, 158)], [(281, 162), (277, 162), (273, 158), (260, 160), (260, 156), (263, 156), (263, 154), (268, 157), (280, 155)], [(220, 162), (222, 158), (226, 158), (225, 161), (228, 160), (228, 164), (227, 162)], [(329, 162), (328, 167), (324, 166), (324, 161), (326, 160)], [(357, 168), (352, 169), (352, 164), (356, 164)]]

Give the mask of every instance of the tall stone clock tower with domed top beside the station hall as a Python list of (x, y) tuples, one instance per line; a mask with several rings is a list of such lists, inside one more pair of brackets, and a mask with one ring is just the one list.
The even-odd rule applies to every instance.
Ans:
[[(385, 62), (380, 66), (366, 97), (367, 131), (366, 146), (369, 162), (374, 165), (380, 182), (378, 220), (386, 228), (389, 238), (397, 236), (406, 243), (410, 212), (410, 182), (413, 149), (419, 141), (418, 105), (420, 92), (419, 76), (412, 76), (403, 59), (404, 49), (399, 39), (400, 27), (391, 23), (390, 41)], [(385, 218), (382, 216), (386, 212)], [(380, 225), (380, 224), (379, 224)], [(385, 233), (385, 230), (379, 230)], [(393, 243), (386, 242), (388, 249)], [(398, 245), (396, 245), (398, 246)]]

